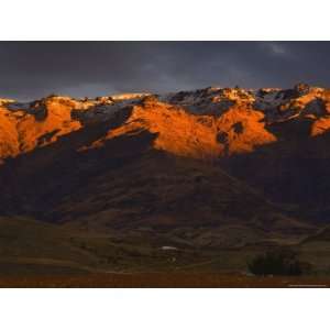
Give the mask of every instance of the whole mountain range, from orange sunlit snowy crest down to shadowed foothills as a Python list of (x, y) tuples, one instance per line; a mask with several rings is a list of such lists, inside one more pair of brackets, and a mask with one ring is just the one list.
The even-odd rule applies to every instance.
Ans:
[(330, 271), (330, 89), (0, 99), (0, 274)]

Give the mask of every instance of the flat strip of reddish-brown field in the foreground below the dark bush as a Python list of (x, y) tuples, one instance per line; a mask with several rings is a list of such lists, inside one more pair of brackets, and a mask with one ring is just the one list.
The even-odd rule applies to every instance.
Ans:
[(219, 274), (92, 274), (2, 277), (0, 287), (45, 288), (296, 288), (330, 287), (330, 277), (256, 277)]

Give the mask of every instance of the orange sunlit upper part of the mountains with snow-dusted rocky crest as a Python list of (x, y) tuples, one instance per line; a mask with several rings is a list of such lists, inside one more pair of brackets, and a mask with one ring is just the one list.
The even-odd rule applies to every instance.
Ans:
[[(130, 114), (111, 129), (123, 111)], [(283, 139), (287, 122), (308, 127), (306, 136), (330, 129), (330, 90), (298, 84), (292, 89), (208, 87), (167, 95), (123, 94), (75, 99), (48, 96), (32, 102), (0, 100), (0, 158), (56, 142), (90, 124), (109, 122), (108, 133), (86, 145), (135, 131), (157, 134), (154, 147), (182, 156), (217, 158), (246, 153)], [(283, 132), (273, 127), (282, 123)], [(285, 136), (285, 138), (284, 138)]]

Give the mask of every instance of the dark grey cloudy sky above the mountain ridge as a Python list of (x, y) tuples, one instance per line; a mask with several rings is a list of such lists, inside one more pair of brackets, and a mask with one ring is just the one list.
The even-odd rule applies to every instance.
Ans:
[(328, 42), (0, 42), (0, 96), (330, 86)]

